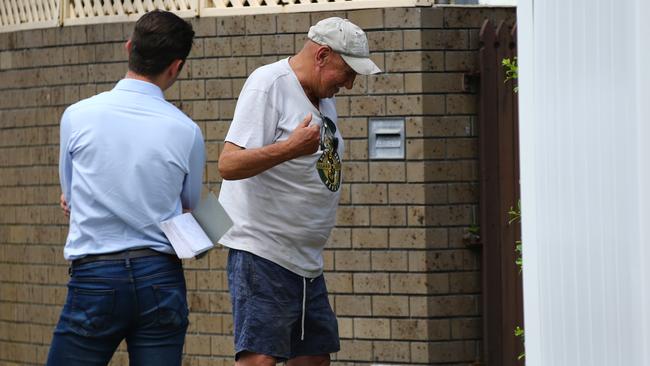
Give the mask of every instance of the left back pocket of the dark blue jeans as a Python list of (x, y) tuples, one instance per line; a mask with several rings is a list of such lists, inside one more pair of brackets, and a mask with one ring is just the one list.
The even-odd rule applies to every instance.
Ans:
[(83, 335), (96, 335), (111, 325), (115, 290), (71, 287), (70, 306), (63, 316), (71, 328)]

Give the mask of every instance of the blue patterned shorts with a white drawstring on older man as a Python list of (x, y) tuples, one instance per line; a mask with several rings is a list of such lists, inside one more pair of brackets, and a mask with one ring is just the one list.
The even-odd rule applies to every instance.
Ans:
[(323, 275), (301, 277), (249, 252), (230, 249), (235, 359), (243, 351), (285, 361), (340, 349)]

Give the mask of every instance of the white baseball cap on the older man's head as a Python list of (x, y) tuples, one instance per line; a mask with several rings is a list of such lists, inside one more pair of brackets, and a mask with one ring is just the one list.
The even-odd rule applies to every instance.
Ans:
[(347, 19), (339, 17), (323, 19), (309, 28), (307, 37), (320, 45), (329, 46), (358, 74), (370, 75), (381, 72), (369, 58), (366, 33)]

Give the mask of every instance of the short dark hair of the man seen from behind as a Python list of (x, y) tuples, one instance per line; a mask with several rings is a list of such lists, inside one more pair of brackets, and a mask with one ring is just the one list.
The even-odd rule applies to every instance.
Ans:
[(192, 49), (192, 25), (168, 11), (154, 10), (143, 15), (131, 36), (129, 70), (156, 76), (174, 60), (183, 60)]

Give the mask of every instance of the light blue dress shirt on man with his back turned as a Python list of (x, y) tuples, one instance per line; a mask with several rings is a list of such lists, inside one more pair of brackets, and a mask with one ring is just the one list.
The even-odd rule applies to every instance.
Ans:
[(204, 163), (200, 128), (154, 84), (123, 79), (68, 107), (59, 156), (71, 210), (64, 257), (136, 248), (174, 254), (159, 223), (196, 206)]

